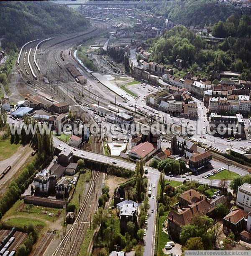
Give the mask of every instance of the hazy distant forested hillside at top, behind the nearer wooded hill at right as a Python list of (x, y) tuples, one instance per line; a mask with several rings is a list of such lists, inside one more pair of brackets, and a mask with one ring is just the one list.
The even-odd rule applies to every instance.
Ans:
[(218, 21), (225, 21), (232, 13), (240, 10), (233, 5), (219, 1), (163, 1), (151, 9), (156, 15), (170, 18), (176, 24), (184, 26), (204, 27)]

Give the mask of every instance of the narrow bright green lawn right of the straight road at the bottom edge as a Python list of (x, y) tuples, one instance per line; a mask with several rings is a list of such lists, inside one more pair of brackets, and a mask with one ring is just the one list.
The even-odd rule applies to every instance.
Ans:
[[(162, 251), (162, 249), (165, 247), (166, 242), (171, 241), (169, 239), (169, 235), (167, 235), (163, 230), (163, 225), (162, 223), (164, 223), (164, 221), (166, 220), (166, 216), (168, 215), (168, 212), (165, 212), (163, 216), (159, 215), (157, 216), (157, 225), (156, 225), (156, 240), (155, 240), (155, 253), (157, 256), (164, 256), (164, 252)], [(158, 220), (159, 218), (159, 220)], [(159, 221), (159, 225), (158, 225), (158, 221)]]

